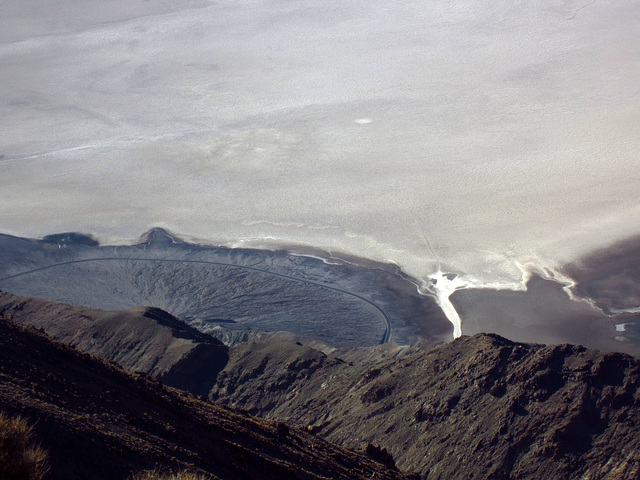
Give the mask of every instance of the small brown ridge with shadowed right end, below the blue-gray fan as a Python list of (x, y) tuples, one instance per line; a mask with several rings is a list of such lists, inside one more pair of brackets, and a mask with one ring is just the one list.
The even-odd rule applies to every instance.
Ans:
[(209, 392), (229, 358), (221, 342), (158, 308), (99, 310), (0, 291), (2, 312), (127, 370), (199, 395)]

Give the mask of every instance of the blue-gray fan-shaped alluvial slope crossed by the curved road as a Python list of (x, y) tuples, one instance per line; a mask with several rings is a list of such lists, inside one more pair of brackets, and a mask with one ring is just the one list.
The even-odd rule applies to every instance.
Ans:
[(287, 331), (334, 347), (452, 338), (435, 299), (395, 265), (196, 245), (161, 229), (129, 246), (0, 235), (0, 289), (93, 308), (158, 307), (203, 331)]

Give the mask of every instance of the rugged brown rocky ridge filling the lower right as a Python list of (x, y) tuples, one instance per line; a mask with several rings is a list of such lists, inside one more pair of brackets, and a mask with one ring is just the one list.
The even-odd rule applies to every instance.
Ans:
[(211, 397), (345, 446), (380, 444), (429, 480), (640, 478), (633, 357), (483, 334), (400, 356), (349, 364), (238, 345)]

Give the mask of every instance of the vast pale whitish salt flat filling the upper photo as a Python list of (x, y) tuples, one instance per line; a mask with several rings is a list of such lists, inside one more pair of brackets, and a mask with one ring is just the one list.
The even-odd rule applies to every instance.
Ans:
[(5, 233), (165, 226), (514, 287), (640, 229), (637, 2), (0, 10)]

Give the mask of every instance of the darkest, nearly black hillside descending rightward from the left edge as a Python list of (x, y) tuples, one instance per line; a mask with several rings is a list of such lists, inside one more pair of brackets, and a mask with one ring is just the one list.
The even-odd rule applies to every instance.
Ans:
[(0, 408), (35, 423), (51, 479), (163, 465), (221, 479), (404, 478), (283, 424), (211, 405), (0, 319)]

